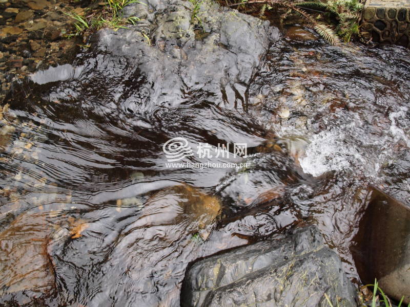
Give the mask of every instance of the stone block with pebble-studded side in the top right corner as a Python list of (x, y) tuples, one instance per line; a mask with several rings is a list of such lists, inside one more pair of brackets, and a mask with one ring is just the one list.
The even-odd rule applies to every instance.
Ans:
[(367, 0), (362, 35), (375, 42), (410, 46), (410, 1)]

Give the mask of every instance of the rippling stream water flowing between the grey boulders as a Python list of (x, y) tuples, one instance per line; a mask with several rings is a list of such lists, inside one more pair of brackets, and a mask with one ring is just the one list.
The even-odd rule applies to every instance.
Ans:
[[(400, 47), (282, 37), (238, 103), (181, 89), (183, 103), (135, 109), (144, 76), (95, 51), (15, 84), (0, 128), (1, 301), (177, 306), (190, 261), (297, 223), (358, 279), (349, 247), (368, 184), (410, 205), (409, 67)], [(192, 150), (182, 162), (211, 165), (167, 165), (175, 137)]]

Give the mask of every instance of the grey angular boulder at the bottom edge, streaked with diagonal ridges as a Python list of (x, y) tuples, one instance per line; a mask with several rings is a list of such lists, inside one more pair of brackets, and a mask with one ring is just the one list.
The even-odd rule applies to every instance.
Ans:
[(196, 262), (186, 273), (181, 306), (356, 306), (340, 258), (316, 227)]

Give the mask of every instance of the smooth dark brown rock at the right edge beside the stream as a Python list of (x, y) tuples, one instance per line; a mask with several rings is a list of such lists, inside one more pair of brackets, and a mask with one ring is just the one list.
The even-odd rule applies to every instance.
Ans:
[(410, 302), (410, 209), (373, 188), (354, 238), (352, 254), (364, 283), (374, 283), (390, 297)]

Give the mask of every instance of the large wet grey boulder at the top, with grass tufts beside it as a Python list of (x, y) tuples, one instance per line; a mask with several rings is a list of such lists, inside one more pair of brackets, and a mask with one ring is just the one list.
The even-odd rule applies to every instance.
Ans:
[[(71, 96), (85, 97), (83, 108), (133, 118), (144, 127), (159, 109), (192, 104), (195, 98), (246, 108), (253, 77), (270, 41), (279, 37), (268, 21), (211, 0), (196, 8), (188, 1), (144, 0), (124, 11), (142, 20), (128, 29), (95, 33), (90, 41), (94, 56), (81, 65), (79, 82), (62, 85), (70, 87)], [(90, 93), (90, 86), (84, 86), (101, 80), (108, 90)], [(58, 99), (59, 93), (52, 96)]]

